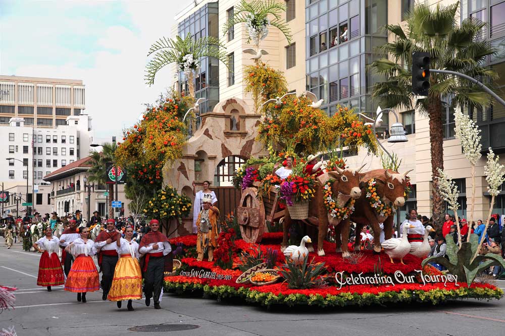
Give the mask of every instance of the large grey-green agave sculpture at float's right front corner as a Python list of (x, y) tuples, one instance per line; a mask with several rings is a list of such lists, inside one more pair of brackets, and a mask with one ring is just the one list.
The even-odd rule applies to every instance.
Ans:
[(446, 253), (449, 259), (432, 256), (423, 260), (421, 264), (423, 267), (429, 262), (439, 263), (446, 267), (450, 274), (458, 276), (458, 281), (466, 282), (468, 286), (472, 284), (480, 272), (489, 266), (501, 265), (505, 268), (505, 260), (499, 254), (477, 255), (472, 260), (477, 248), (479, 248), (479, 236), (476, 234), (472, 233), (470, 241), (462, 243), (460, 248), (452, 237), (448, 236)]

